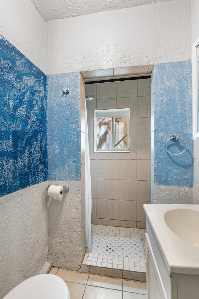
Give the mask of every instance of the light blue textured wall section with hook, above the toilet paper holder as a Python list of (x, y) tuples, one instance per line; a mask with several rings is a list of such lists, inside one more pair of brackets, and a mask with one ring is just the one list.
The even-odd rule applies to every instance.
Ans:
[(49, 180), (80, 181), (80, 73), (48, 75), (47, 97)]

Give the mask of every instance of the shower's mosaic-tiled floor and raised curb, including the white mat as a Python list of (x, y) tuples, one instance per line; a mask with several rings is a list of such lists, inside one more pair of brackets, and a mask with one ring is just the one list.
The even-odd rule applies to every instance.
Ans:
[(145, 233), (146, 229), (92, 224), (92, 250), (85, 254), (82, 269), (98, 274), (97, 267), (106, 268), (109, 276), (146, 281)]

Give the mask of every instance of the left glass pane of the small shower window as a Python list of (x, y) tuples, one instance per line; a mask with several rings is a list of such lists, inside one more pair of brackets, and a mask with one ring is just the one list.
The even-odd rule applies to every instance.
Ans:
[(97, 118), (97, 150), (111, 149), (111, 117)]

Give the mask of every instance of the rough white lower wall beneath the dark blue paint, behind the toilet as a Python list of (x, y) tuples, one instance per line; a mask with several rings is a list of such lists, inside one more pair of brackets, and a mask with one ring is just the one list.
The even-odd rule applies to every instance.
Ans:
[(39, 273), (48, 256), (47, 182), (0, 198), (0, 298)]

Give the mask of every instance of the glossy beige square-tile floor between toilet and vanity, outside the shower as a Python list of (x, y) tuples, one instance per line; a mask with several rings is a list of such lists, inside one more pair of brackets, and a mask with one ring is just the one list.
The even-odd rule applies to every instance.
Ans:
[(67, 284), (71, 299), (146, 299), (146, 283), (52, 268)]

